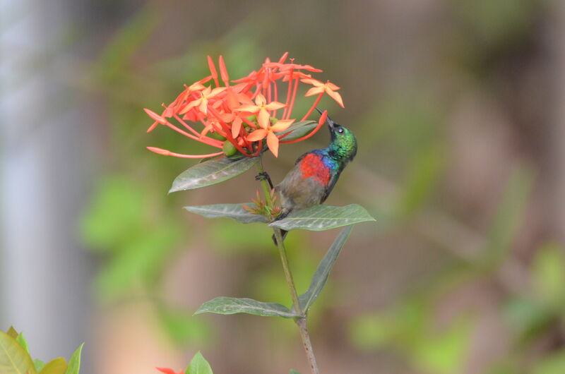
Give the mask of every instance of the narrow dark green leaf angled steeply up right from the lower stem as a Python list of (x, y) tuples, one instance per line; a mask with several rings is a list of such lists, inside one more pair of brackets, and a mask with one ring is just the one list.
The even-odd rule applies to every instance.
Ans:
[(349, 238), (352, 228), (353, 225), (346, 227), (340, 232), (338, 237), (335, 238), (330, 249), (320, 261), (320, 265), (318, 265), (316, 272), (314, 272), (314, 277), (312, 277), (308, 291), (299, 296), (298, 301), (300, 303), (300, 310), (302, 310), (303, 313), (307, 313), (310, 306), (314, 303), (314, 301), (316, 301), (316, 298), (318, 298), (323, 286), (325, 286), (326, 282), (328, 282), (328, 277), (330, 276), (333, 264), (335, 263), (335, 260), (338, 259), (341, 248), (343, 248), (345, 241)]

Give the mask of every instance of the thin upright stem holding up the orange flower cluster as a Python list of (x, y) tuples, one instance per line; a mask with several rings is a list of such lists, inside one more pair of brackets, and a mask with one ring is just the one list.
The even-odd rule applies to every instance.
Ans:
[[(257, 170), (259, 173), (263, 173), (265, 171), (263, 169), (263, 159), (261, 159), (261, 162), (258, 162)], [(265, 195), (265, 201), (267, 205), (269, 207), (272, 207), (273, 201), (270, 198), (270, 186), (268, 185), (268, 182), (262, 180), (261, 186), (263, 187), (263, 193)], [(301, 317), (295, 318), (295, 323), (300, 331), (300, 337), (302, 338), (304, 351), (306, 351), (308, 363), (310, 364), (310, 370), (312, 374), (319, 374), (318, 365), (316, 364), (316, 357), (314, 356), (314, 350), (312, 349), (312, 344), (310, 342), (310, 335), (308, 334), (307, 316), (305, 315), (304, 311), (300, 309), (295, 281), (294, 279), (292, 279), (292, 272), (290, 272), (290, 266), (288, 265), (287, 251), (285, 248), (285, 243), (283, 241), (283, 234), (281, 234), (280, 229), (277, 229), (276, 227), (273, 227), (273, 232), (275, 233), (275, 239), (277, 241), (280, 262), (283, 263), (285, 279), (287, 281), (288, 289), (290, 290), (290, 296), (292, 298), (292, 308), (295, 310), (295, 313), (301, 315)]]

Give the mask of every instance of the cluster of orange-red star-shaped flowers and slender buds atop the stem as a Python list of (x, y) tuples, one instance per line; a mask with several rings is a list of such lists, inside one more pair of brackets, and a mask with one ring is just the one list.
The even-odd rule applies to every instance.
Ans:
[[(208, 56), (210, 76), (192, 85), (185, 85), (184, 91), (171, 104), (163, 104), (165, 110), (162, 114), (145, 109), (155, 121), (147, 132), (153, 131), (161, 124), (187, 138), (218, 148), (220, 152), (208, 155), (183, 155), (157, 147), (147, 147), (148, 150), (160, 155), (185, 158), (214, 157), (223, 154), (230, 156), (237, 152), (246, 157), (256, 157), (261, 154), (263, 140), (266, 140), (270, 152), (278, 157), (280, 144), (297, 143), (314, 135), (322, 126), (326, 115), (322, 116), (318, 126), (311, 133), (299, 139), (283, 140), (290, 133), (286, 130), (296, 120), (290, 117), (299, 84), (312, 85), (313, 87), (304, 96), (316, 97), (309, 111), (300, 121), (310, 116), (325, 94), (343, 107), (343, 99), (336, 92), (339, 87), (329, 81), (322, 83), (312, 78), (309, 73), (319, 73), (321, 72), (319, 69), (295, 64), (293, 59), (290, 59), (290, 63), (285, 63), (287, 56), (288, 52), (277, 62), (266, 59), (258, 71), (252, 71), (248, 76), (238, 80), (230, 80), (222, 56), (218, 61), (220, 68), (218, 76), (215, 64)], [(220, 83), (220, 79), (223, 84)], [(205, 84), (208, 82), (210, 85), (207, 87)], [(282, 85), (285, 87), (279, 87)], [(282, 90), (285, 90), (285, 95)], [(180, 126), (172, 123), (173, 119)], [(200, 131), (195, 130), (194, 123), (201, 124)]]

